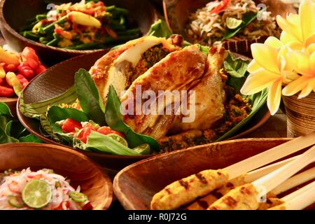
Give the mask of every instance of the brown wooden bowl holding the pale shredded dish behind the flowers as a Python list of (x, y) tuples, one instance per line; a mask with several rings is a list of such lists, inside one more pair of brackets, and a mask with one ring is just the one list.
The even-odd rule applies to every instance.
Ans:
[[(191, 13), (195, 13), (197, 9), (206, 6), (208, 2), (207, 0), (163, 0), (165, 20), (169, 28), (175, 34), (181, 34), (193, 43), (194, 40), (191, 40), (185, 31), (189, 22), (188, 17)], [(273, 16), (282, 15), (286, 17), (287, 12), (296, 13), (292, 4), (283, 3), (281, 0), (255, 0), (255, 3), (264, 3), (268, 7), (267, 10), (270, 10)], [(223, 46), (232, 52), (238, 52), (241, 55), (251, 57), (251, 44), (264, 43), (266, 39), (267, 36), (260, 36), (253, 40), (224, 41)]]

